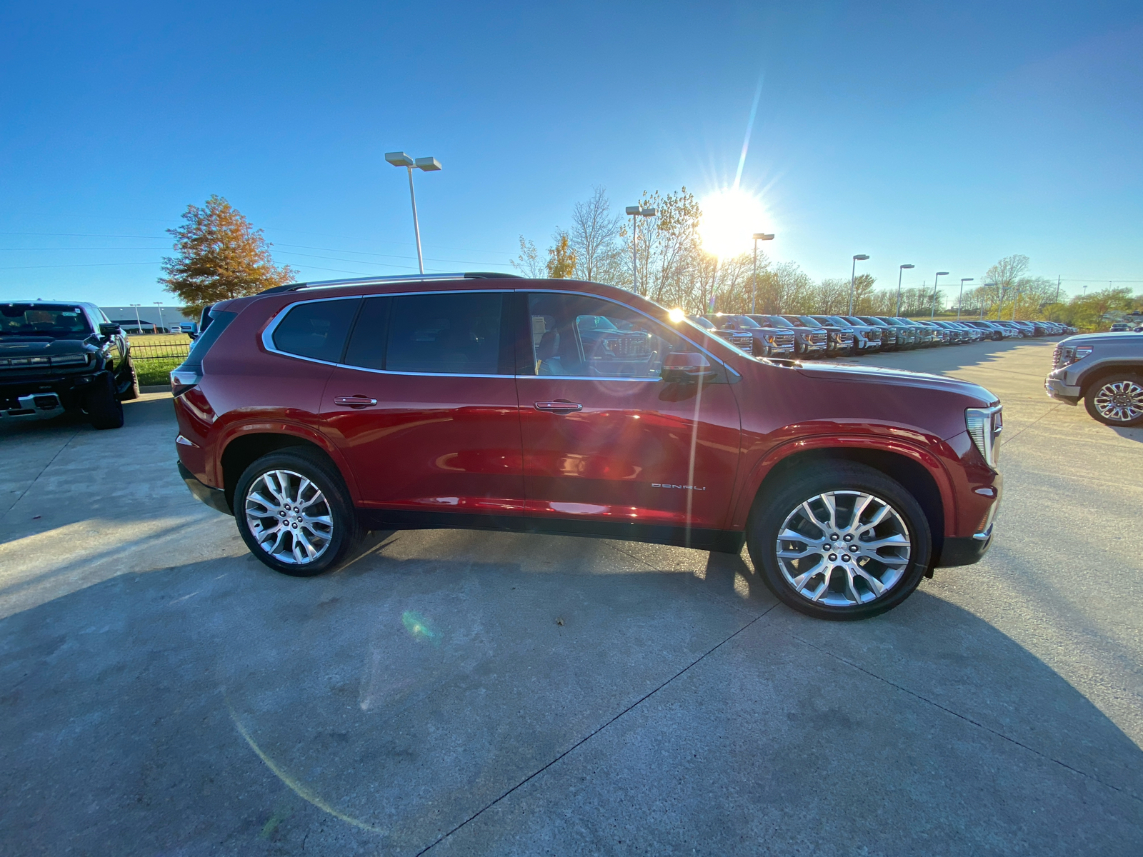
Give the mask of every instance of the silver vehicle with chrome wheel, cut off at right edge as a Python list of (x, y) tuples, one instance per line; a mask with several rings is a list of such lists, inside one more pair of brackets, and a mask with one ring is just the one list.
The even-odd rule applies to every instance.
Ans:
[(1079, 405), (1101, 423), (1143, 425), (1143, 336), (1084, 334), (1062, 341), (1044, 382), (1053, 399)]

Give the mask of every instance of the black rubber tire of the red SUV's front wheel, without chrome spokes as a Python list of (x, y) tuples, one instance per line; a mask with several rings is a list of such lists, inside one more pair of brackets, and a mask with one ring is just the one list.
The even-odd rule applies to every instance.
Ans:
[[(781, 528), (786, 523), (788, 518), (801, 514), (799, 508), (804, 503), (810, 505), (816, 516), (820, 510), (826, 508), (818, 498), (831, 492), (842, 492), (832, 498), (838, 510), (834, 521), (842, 526), (840, 532), (837, 531), (837, 527), (833, 528), (833, 532), (829, 532), (826, 528), (822, 527), (823, 522), (820, 522), (820, 535), (823, 537), (839, 536), (844, 538), (845, 535), (849, 535), (846, 532), (848, 528), (845, 523), (853, 522), (853, 508), (860, 502), (857, 494), (870, 495), (877, 503), (889, 506), (895, 516), (886, 513), (886, 520), (876, 524), (877, 531), (866, 529), (870, 526), (871, 512), (869, 508), (873, 508), (874, 512), (880, 510), (880, 505), (874, 506), (873, 502), (870, 502), (870, 506), (858, 516), (857, 521), (856, 529), (864, 530), (864, 532), (858, 531), (848, 544), (841, 538), (826, 539), (830, 544), (838, 545), (838, 548), (832, 553), (826, 553), (826, 548), (814, 553), (815, 546), (810, 544), (809, 539), (805, 543), (784, 542), (783, 551), (786, 553), (801, 550), (808, 550), (809, 553), (805, 559), (808, 564), (791, 568), (802, 560), (786, 558), (783, 566), (778, 558)], [(805, 524), (804, 521), (805, 519), (798, 519), (797, 526), (809, 531), (809, 524)], [(862, 558), (853, 556), (850, 564), (858, 566), (860, 571), (852, 577), (850, 588), (846, 588), (846, 579), (842, 578), (850, 578), (850, 575), (846, 572), (845, 564), (831, 564), (832, 562), (841, 563), (846, 556), (850, 556), (848, 553), (842, 553), (842, 550), (849, 551), (853, 545), (858, 545), (857, 550), (861, 551), (865, 542), (884, 542), (897, 530), (908, 537), (906, 561), (902, 562), (904, 558), (901, 555), (901, 552), (906, 547), (905, 545), (864, 548), (865, 554)], [(874, 538), (863, 540), (863, 535), (872, 535)], [(799, 547), (799, 544), (802, 546)], [(886, 610), (892, 610), (909, 598), (928, 570), (933, 554), (933, 536), (928, 519), (920, 504), (900, 482), (863, 464), (823, 462), (796, 471), (767, 496), (759, 496), (746, 524), (746, 546), (758, 574), (782, 602), (807, 616), (845, 622), (877, 616)], [(887, 564), (880, 561), (879, 551), (894, 551), (896, 553), (885, 555), (885, 559), (889, 561)], [(812, 574), (818, 562), (823, 568), (829, 569), (829, 577), (821, 572)], [(861, 562), (864, 564), (858, 564)], [(801, 571), (792, 579), (801, 579), (805, 575), (804, 588), (817, 580), (817, 598), (820, 600), (814, 601), (810, 595), (801, 594), (791, 579), (786, 577), (783, 568), (791, 572)], [(841, 574), (838, 574), (839, 570)], [(876, 578), (878, 585), (885, 580), (889, 582), (880, 595), (874, 594), (873, 586), (866, 583), (869, 577)], [(825, 603), (826, 600), (834, 603)]]

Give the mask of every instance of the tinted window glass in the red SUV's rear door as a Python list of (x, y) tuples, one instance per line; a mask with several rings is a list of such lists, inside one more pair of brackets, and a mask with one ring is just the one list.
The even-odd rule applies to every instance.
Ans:
[(503, 301), (496, 293), (394, 297), (385, 369), (496, 375)]

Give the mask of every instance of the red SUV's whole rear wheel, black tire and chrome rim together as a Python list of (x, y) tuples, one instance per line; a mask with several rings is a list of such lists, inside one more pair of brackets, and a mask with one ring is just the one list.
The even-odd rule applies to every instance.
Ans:
[(333, 568), (360, 538), (341, 474), (306, 450), (258, 458), (238, 480), (233, 505), (238, 531), (250, 553), (291, 577)]

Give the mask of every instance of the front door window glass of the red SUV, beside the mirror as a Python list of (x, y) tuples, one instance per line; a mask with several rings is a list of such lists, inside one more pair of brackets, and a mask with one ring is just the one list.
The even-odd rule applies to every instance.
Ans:
[(634, 310), (581, 295), (528, 295), (536, 375), (657, 378), (685, 341)]

